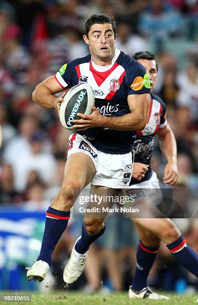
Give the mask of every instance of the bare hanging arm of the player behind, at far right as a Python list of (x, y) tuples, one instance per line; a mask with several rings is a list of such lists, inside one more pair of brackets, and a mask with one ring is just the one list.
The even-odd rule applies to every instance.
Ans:
[(160, 149), (168, 161), (164, 170), (164, 183), (167, 185), (177, 185), (177, 144), (169, 124), (167, 124), (165, 128), (159, 129), (157, 136), (160, 144)]

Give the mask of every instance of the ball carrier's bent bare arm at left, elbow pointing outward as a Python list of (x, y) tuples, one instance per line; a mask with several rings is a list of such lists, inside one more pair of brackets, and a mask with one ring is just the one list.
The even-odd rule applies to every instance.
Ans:
[(54, 76), (50, 76), (45, 79), (42, 83), (38, 84), (32, 93), (32, 100), (45, 108), (60, 109), (61, 102), (63, 101), (66, 92), (60, 97), (54, 94), (62, 92), (63, 88), (58, 84)]

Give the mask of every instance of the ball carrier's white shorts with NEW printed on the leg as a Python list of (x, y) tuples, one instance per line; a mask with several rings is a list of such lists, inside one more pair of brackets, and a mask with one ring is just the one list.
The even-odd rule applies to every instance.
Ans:
[(128, 188), (131, 179), (134, 154), (110, 154), (98, 151), (89, 141), (79, 134), (69, 136), (68, 157), (77, 152), (87, 154), (96, 167), (91, 183), (111, 188)]

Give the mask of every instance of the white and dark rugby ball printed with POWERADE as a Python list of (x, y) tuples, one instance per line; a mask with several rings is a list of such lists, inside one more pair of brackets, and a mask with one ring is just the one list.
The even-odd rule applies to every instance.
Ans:
[(88, 84), (72, 87), (65, 95), (60, 107), (60, 121), (66, 129), (74, 130), (74, 120), (81, 119), (77, 113), (89, 115), (92, 113), (91, 104), (95, 103), (95, 96)]

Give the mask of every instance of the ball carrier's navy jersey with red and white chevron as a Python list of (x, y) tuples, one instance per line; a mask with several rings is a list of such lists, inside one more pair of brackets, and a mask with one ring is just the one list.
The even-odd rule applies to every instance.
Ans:
[[(150, 92), (144, 67), (118, 49), (109, 66), (97, 66), (88, 55), (63, 65), (55, 78), (64, 89), (88, 83), (95, 94), (95, 106), (104, 116), (119, 117), (130, 113), (127, 96)], [(101, 127), (78, 133), (99, 151), (114, 154), (131, 152), (136, 138), (136, 132)]]

